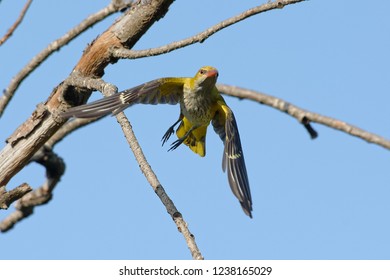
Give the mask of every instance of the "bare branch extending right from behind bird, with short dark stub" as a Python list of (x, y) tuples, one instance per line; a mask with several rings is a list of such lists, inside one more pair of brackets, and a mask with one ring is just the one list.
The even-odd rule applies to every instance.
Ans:
[(328, 127), (343, 131), (352, 136), (361, 138), (369, 143), (379, 145), (385, 149), (390, 149), (390, 141), (379, 135), (367, 132), (363, 129), (360, 129), (341, 120), (306, 111), (280, 98), (276, 98), (274, 96), (266, 95), (264, 93), (256, 92), (253, 90), (229, 85), (218, 84), (217, 87), (221, 92), (227, 95), (235, 96), (242, 99), (250, 99), (278, 109), (296, 118), (300, 123), (305, 124), (308, 122), (313, 122), (323, 124)]

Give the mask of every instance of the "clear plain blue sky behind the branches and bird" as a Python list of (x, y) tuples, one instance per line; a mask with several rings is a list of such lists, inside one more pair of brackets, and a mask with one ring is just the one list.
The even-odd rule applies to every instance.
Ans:
[[(25, 1), (0, 3), (0, 32)], [(0, 87), (51, 41), (109, 1), (34, 1), (0, 47)], [(261, 1), (176, 1), (135, 49), (195, 35)], [(263, 1), (265, 2), (265, 1)], [(251, 17), (203, 44), (146, 59), (122, 60), (104, 79), (120, 90), (163, 76), (193, 76), (203, 65), (219, 82), (262, 91), (309, 111), (390, 138), (390, 2), (307, 1)], [(119, 14), (52, 55), (19, 88), (0, 119), (5, 139), (65, 79), (83, 49)], [(99, 98), (99, 92), (92, 99)], [(91, 99), (91, 100), (92, 100)], [(126, 111), (149, 163), (189, 224), (207, 259), (389, 259), (390, 152), (313, 124), (226, 97), (234, 110), (253, 198), (244, 215), (222, 172), (212, 129), (205, 158), (160, 139), (179, 107)], [(173, 141), (174, 138), (171, 139)], [(170, 142), (171, 142), (170, 141)], [(2, 144), (4, 146), (5, 144)], [(55, 148), (66, 173), (53, 200), (0, 235), (5, 259), (190, 259), (183, 237), (141, 174), (115, 118), (81, 129)], [(31, 164), (8, 185), (45, 180)], [(13, 211), (0, 211), (3, 219)]]

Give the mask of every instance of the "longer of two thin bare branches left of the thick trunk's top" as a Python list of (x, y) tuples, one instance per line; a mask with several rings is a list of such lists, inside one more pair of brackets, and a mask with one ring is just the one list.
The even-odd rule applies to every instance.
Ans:
[(130, 7), (131, 5), (131, 3), (124, 1), (113, 0), (107, 7), (93, 15), (88, 16), (77, 26), (69, 30), (65, 35), (51, 42), (44, 50), (42, 50), (30, 62), (28, 62), (27, 65), (24, 66), (18, 74), (16, 74), (16, 76), (12, 78), (10, 84), (4, 90), (3, 96), (0, 97), (0, 117), (4, 113), (5, 108), (11, 101), (23, 80), (27, 78), (28, 75), (30, 75), (31, 72), (33, 72), (39, 65), (41, 65), (41, 63), (44, 62), (53, 52), (68, 44), (70, 41), (75, 39), (78, 35), (83, 33), (94, 24), (102, 21), (113, 13), (116, 13), (126, 7)]

